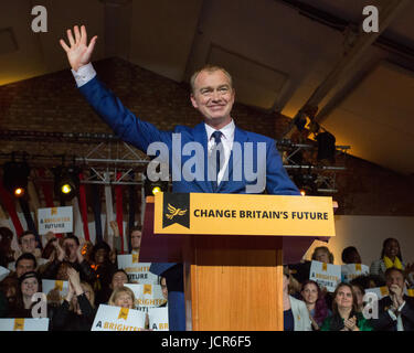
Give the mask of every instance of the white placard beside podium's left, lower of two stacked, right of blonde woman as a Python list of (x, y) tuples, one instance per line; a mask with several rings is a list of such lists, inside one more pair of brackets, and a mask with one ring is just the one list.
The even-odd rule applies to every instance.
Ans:
[(162, 296), (160, 285), (130, 285), (126, 284), (125, 287), (134, 291), (135, 304), (138, 310), (148, 312), (148, 308), (158, 308), (167, 302)]

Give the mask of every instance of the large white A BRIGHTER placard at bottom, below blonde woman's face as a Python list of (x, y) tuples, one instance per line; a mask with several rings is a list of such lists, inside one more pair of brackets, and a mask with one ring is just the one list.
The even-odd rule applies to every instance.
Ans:
[(100, 304), (91, 331), (141, 331), (145, 322), (139, 310)]

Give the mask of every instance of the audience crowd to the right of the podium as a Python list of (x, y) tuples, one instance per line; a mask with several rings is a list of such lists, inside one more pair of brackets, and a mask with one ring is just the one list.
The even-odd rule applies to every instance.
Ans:
[[(311, 259), (333, 264), (327, 246), (315, 248)], [(353, 246), (342, 252), (343, 264), (363, 264)], [(370, 266), (369, 274), (340, 281), (333, 292), (309, 280), (310, 261), (284, 268), (285, 331), (413, 331), (414, 266), (405, 264), (399, 240), (383, 242), (381, 256)], [(370, 288), (386, 288), (376, 304), (367, 299)]]

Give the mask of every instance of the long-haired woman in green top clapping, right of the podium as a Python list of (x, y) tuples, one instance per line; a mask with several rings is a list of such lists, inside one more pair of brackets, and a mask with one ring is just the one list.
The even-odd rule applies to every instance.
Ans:
[(352, 286), (341, 282), (333, 292), (332, 314), (325, 319), (321, 331), (372, 331), (367, 319), (358, 311)]

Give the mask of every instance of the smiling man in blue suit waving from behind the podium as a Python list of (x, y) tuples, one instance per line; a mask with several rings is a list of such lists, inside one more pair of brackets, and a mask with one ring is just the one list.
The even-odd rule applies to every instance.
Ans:
[[(231, 117), (235, 92), (224, 68), (206, 66), (191, 77), (191, 103), (204, 121), (194, 128), (177, 126), (173, 131), (161, 131), (137, 118), (96, 78), (91, 56), (97, 36), (87, 44), (85, 26), (81, 30), (75, 26), (74, 34), (75, 38), (67, 30), (70, 46), (63, 40), (61, 45), (79, 92), (124, 141), (147, 154), (155, 156), (153, 150), (158, 150), (156, 159), (171, 161), (168, 167), (173, 192), (262, 193), (266, 190), (269, 194), (300, 194), (283, 168), (275, 140), (235, 126)], [(161, 156), (162, 150), (167, 156)], [(160, 264), (151, 270), (167, 278), (170, 330), (185, 330), (182, 266)]]

